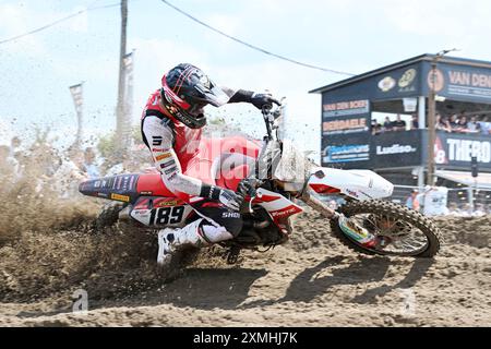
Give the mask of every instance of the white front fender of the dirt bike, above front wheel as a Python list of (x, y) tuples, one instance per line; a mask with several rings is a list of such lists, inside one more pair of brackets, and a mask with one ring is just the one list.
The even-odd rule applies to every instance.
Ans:
[(392, 195), (394, 184), (370, 170), (312, 169), (308, 186), (319, 194), (345, 194), (364, 201)]

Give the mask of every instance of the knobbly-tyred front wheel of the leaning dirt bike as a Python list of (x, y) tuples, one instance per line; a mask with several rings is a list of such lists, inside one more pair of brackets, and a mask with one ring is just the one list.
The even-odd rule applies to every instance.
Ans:
[(347, 246), (369, 254), (432, 257), (443, 239), (434, 222), (420, 213), (384, 201), (349, 202), (338, 212), (375, 236), (376, 243), (366, 246), (345, 234), (337, 219), (331, 221), (332, 232)]

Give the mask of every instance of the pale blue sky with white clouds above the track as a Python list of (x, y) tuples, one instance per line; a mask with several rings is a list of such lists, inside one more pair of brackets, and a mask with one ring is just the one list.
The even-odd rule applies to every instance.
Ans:
[[(0, 0), (0, 40), (85, 7), (118, 0)], [(362, 73), (445, 48), (491, 60), (487, 0), (172, 0), (200, 20), (278, 55)], [(0, 124), (28, 140), (33, 123), (50, 125), (59, 143), (75, 135), (68, 86), (85, 81), (87, 134), (115, 128), (120, 12), (88, 12), (0, 45)], [(191, 22), (159, 0), (130, 0), (128, 48), (135, 49), (134, 122), (165, 71), (180, 62), (223, 85), (270, 89), (288, 98), (291, 127), (303, 149), (319, 151), (320, 96), (308, 91), (344, 76), (297, 67), (251, 50)], [(247, 105), (209, 112), (261, 135), (261, 117)], [(9, 130), (1, 137), (7, 139)]]

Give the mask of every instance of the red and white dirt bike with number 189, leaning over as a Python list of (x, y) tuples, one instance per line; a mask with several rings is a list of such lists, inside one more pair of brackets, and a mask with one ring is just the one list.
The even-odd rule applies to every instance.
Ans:
[[(282, 107), (263, 110), (267, 134), (261, 146), (229, 139), (254, 154), (252, 168), (243, 165), (224, 173), (216, 164), (209, 167), (217, 185), (240, 190), (246, 197), (241, 233), (219, 243), (226, 249), (229, 264), (237, 263), (243, 249), (268, 250), (287, 242), (294, 232), (291, 217), (303, 212), (306, 205), (328, 220), (331, 232), (340, 242), (358, 252), (414, 257), (432, 257), (439, 252), (442, 239), (431, 219), (382, 200), (392, 195), (391, 182), (370, 170), (315, 165), (291, 142), (282, 140), (283, 113)], [(209, 161), (213, 157), (208, 154)], [(199, 218), (189, 204), (165, 188), (157, 170), (85, 181), (80, 192), (120, 203), (103, 210), (97, 219), (101, 226), (129, 217), (135, 226), (161, 229), (183, 227)], [(323, 195), (338, 195), (345, 204), (332, 209)], [(352, 229), (375, 236), (374, 243), (361, 243), (359, 234), (350, 233)]]

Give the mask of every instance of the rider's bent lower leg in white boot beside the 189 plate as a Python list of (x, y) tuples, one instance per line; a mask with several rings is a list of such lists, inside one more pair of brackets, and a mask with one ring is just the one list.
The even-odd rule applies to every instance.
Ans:
[(180, 229), (167, 228), (158, 232), (157, 262), (166, 264), (178, 249), (206, 246), (233, 239), (242, 229), (242, 217), (223, 204), (209, 200), (200, 200), (191, 204), (200, 219)]

